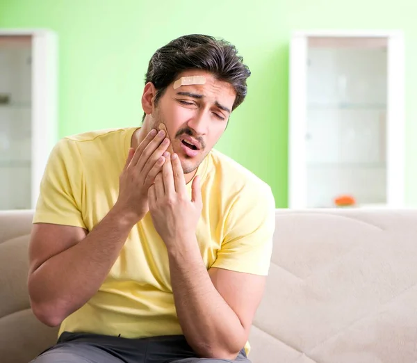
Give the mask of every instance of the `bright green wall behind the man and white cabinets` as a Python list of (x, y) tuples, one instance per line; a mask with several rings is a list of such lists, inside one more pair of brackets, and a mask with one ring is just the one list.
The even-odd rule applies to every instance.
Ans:
[(417, 204), (415, 0), (0, 0), (0, 26), (59, 36), (60, 136), (140, 124), (147, 62), (186, 33), (233, 42), (252, 70), (247, 100), (218, 150), (287, 205), (288, 40), (293, 29), (403, 29), (407, 46), (407, 202)]

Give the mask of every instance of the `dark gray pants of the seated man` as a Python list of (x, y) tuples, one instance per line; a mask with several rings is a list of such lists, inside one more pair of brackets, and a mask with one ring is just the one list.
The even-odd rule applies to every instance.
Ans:
[(241, 350), (236, 360), (196, 357), (183, 335), (126, 339), (64, 332), (58, 343), (31, 363), (250, 363)]

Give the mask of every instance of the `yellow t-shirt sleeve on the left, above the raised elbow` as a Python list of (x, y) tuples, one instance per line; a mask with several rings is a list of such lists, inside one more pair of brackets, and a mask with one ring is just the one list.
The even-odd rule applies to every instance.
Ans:
[(54, 146), (40, 183), (33, 223), (54, 223), (85, 228), (81, 213), (83, 172), (73, 140)]

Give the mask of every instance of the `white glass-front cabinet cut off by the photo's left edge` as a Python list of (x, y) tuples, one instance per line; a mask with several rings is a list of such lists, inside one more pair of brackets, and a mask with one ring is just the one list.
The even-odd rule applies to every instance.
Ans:
[(57, 140), (56, 35), (0, 29), (0, 209), (32, 209)]

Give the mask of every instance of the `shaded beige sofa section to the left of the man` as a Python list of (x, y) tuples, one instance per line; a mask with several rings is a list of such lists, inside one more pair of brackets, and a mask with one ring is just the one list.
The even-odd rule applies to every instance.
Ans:
[(28, 363), (56, 341), (28, 298), (28, 241), (32, 211), (0, 211), (0, 362)]

